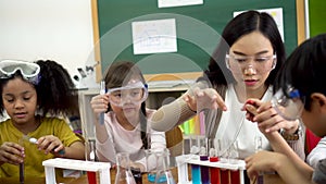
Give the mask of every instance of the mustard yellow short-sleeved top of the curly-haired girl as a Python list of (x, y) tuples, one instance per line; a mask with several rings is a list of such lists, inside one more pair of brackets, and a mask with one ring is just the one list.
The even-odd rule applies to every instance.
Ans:
[[(74, 134), (71, 127), (64, 120), (58, 118), (41, 118), (41, 124), (37, 130), (30, 132), (28, 136), (39, 138), (45, 135), (54, 135), (61, 139), (62, 144), (67, 147), (74, 142), (80, 140), (78, 136)], [(23, 137), (23, 133), (13, 126), (12, 121), (9, 119), (0, 123), (0, 145), (4, 142), (12, 142), (20, 144), (20, 139)], [(25, 175), (26, 176), (45, 176), (45, 168), (42, 161), (53, 158), (52, 154), (45, 155), (42, 150), (38, 150), (37, 145), (30, 144), (26, 140), (24, 143), (25, 148)], [(10, 163), (3, 163), (0, 165), (0, 177), (11, 177), (20, 175), (20, 167)]]

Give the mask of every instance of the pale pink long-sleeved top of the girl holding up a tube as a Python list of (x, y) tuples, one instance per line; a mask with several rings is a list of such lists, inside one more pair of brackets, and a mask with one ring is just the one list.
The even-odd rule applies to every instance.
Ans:
[[(152, 149), (154, 148), (165, 148), (165, 133), (156, 132), (150, 128), (150, 116), (154, 110), (147, 109), (148, 116), (148, 130), (150, 134), (149, 145)], [(104, 125), (109, 134), (109, 138), (104, 143), (99, 143), (97, 140), (97, 155), (99, 160), (110, 160), (110, 162), (115, 163), (115, 157), (117, 152), (129, 152), (129, 158), (134, 162), (141, 163), (145, 168), (146, 155), (145, 150), (141, 149), (142, 140), (140, 136), (140, 123), (133, 131), (127, 131), (116, 120), (114, 112), (110, 111), (104, 116)]]

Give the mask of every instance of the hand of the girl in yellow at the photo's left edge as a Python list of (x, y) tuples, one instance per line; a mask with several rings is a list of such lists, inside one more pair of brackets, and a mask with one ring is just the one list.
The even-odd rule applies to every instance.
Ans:
[(18, 144), (5, 142), (0, 147), (0, 164), (20, 164), (24, 162), (24, 147)]

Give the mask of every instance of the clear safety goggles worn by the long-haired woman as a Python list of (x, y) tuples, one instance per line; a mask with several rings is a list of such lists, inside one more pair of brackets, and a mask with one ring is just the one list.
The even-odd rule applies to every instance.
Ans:
[[(271, 62), (272, 60), (272, 62)], [(234, 73), (244, 73), (244, 70), (255, 70), (258, 73), (267, 73), (276, 66), (276, 56), (239, 56), (226, 54), (226, 68)]]

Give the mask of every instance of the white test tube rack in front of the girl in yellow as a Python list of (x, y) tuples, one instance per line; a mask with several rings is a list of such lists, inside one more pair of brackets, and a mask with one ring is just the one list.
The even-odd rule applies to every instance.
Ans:
[(55, 168), (99, 172), (100, 184), (111, 183), (111, 179), (110, 179), (111, 164), (109, 162), (95, 162), (95, 161), (54, 158), (54, 159), (49, 159), (43, 161), (42, 165), (45, 167), (46, 170), (47, 184), (57, 184), (55, 171), (54, 171)]

